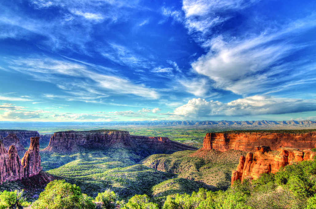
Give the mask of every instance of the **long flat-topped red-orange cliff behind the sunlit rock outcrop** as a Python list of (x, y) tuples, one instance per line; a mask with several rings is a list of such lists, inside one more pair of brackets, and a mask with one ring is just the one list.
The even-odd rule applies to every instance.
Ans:
[(299, 150), (312, 149), (316, 146), (316, 132), (311, 133), (207, 133), (204, 137), (203, 150), (229, 149), (255, 151), (256, 146), (266, 145), (271, 150), (279, 147), (295, 147)]

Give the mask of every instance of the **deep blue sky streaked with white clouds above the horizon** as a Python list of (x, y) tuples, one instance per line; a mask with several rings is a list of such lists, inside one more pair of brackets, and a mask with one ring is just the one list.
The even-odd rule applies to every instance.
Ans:
[(316, 120), (316, 2), (0, 1), (0, 121)]

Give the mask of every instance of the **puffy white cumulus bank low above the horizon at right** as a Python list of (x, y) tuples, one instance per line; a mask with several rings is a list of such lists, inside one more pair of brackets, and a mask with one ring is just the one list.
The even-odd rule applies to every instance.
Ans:
[(176, 108), (175, 116), (189, 118), (205, 118), (211, 116), (249, 116), (267, 114), (298, 113), (315, 111), (315, 100), (274, 98), (256, 95), (237, 99), (229, 103), (206, 101), (205, 99), (191, 99), (187, 104)]

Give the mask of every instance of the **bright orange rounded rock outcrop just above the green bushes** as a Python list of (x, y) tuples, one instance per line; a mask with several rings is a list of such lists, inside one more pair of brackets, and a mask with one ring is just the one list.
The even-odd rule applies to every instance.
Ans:
[(248, 152), (246, 157), (240, 156), (236, 170), (232, 172), (231, 183), (245, 178), (257, 179), (262, 173), (276, 173), (281, 167), (285, 167), (293, 162), (303, 160), (313, 160), (316, 155), (311, 150), (281, 147), (276, 151), (271, 151), (269, 146), (256, 146), (256, 152)]

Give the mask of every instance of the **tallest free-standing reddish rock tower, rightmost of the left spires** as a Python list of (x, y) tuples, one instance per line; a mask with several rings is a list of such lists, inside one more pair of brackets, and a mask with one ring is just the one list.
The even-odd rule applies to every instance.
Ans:
[(21, 160), (21, 164), (24, 167), (25, 178), (37, 175), (42, 170), (42, 167), (40, 166), (39, 139), (40, 137), (31, 137), (30, 147)]

